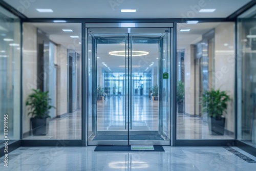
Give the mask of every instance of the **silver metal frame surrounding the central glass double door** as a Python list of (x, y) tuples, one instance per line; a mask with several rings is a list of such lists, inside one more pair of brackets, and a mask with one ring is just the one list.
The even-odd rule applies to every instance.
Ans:
[[(168, 31), (166, 30), (168, 28)], [(92, 23), (92, 24), (86, 24), (86, 61), (88, 60), (88, 34), (90, 33), (124, 33), (127, 34), (127, 37), (130, 37), (130, 33), (172, 33), (173, 23), (106, 23), (106, 24), (100, 24), (100, 23)], [(155, 31), (156, 30), (156, 31)], [(161, 30), (161, 31), (159, 31)], [(171, 35), (170, 35), (171, 36)], [(172, 49), (172, 40), (169, 42), (170, 49)], [(127, 42), (126, 42), (127, 44)], [(128, 40), (128, 46), (130, 46), (130, 42)], [(125, 46), (126, 47), (126, 46)], [(129, 51), (128, 51), (129, 52)], [(129, 55), (129, 54), (128, 54)], [(169, 58), (171, 58), (172, 52), (169, 53)], [(130, 57), (130, 55), (129, 55)], [(132, 58), (132, 56), (131, 56)], [(126, 59), (125, 59), (126, 60)], [(128, 65), (129, 66), (129, 65)], [(160, 67), (160, 66), (159, 66)], [(86, 66), (87, 68), (87, 66)], [(129, 67), (128, 67), (129, 68)], [(86, 69), (87, 70), (87, 69)], [(130, 71), (129, 71), (130, 72)], [(160, 73), (159, 73), (160, 74)], [(132, 79), (132, 78), (131, 78)], [(88, 92), (88, 75), (86, 75), (86, 92)], [(159, 77), (160, 80), (160, 77)], [(128, 86), (131, 88), (131, 86)], [(171, 90), (170, 90), (171, 91)], [(87, 93), (88, 94), (88, 93)], [(129, 95), (129, 92), (128, 92)], [(132, 94), (130, 93), (130, 96), (132, 97)], [(130, 98), (131, 98), (130, 97)], [(88, 101), (88, 96), (86, 97), (86, 101)], [(128, 102), (129, 103), (129, 102)], [(86, 103), (86, 122), (88, 124), (88, 103)], [(171, 110), (170, 110), (171, 111)], [(172, 112), (170, 112), (170, 118), (172, 118)], [(125, 115), (126, 116), (126, 115)], [(129, 112), (127, 114), (128, 121), (129, 118)], [(126, 125), (126, 123), (125, 123)], [(171, 125), (171, 123), (170, 123)], [(129, 132), (130, 132), (130, 123), (128, 124), (127, 129), (127, 136), (128, 140), (103, 140), (103, 141), (88, 141), (88, 136), (86, 137), (86, 144), (88, 145), (132, 145), (132, 144), (156, 144), (156, 145), (170, 145), (172, 136), (170, 136), (170, 141), (158, 141), (158, 140), (129, 140)], [(171, 129), (172, 131), (172, 129)], [(88, 132), (88, 126), (86, 126), (86, 133)]]

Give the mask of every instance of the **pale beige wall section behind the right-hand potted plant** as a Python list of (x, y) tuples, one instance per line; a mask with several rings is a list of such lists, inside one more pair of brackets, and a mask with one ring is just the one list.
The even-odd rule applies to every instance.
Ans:
[[(224, 46), (224, 44), (226, 46)], [(223, 23), (215, 29), (215, 89), (227, 91), (226, 129), (234, 132), (234, 24)]]

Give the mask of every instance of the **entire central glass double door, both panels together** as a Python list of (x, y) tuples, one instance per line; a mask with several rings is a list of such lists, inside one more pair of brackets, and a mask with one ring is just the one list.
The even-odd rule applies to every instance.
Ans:
[(90, 28), (87, 42), (88, 144), (169, 145), (170, 29)]

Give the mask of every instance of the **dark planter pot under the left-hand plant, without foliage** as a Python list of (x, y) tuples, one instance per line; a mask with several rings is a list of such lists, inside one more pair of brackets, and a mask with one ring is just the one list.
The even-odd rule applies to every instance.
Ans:
[(47, 135), (49, 130), (48, 118), (30, 118), (33, 135)]

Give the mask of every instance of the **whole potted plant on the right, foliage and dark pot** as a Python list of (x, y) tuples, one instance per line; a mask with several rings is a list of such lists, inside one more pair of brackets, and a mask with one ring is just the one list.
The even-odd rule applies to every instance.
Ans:
[(211, 89), (201, 97), (203, 112), (208, 114), (208, 126), (212, 134), (224, 135), (227, 102), (230, 97), (225, 91)]

